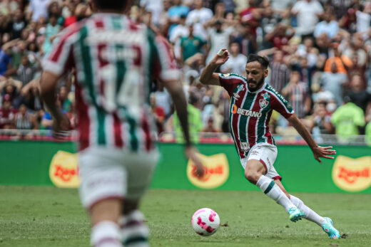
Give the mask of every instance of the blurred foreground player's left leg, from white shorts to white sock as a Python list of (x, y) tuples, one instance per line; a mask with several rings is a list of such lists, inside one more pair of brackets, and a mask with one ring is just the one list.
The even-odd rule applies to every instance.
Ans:
[(91, 216), (92, 246), (122, 246), (118, 219), (126, 194), (126, 171), (116, 156), (116, 152), (102, 148), (86, 149), (79, 155), (79, 192)]

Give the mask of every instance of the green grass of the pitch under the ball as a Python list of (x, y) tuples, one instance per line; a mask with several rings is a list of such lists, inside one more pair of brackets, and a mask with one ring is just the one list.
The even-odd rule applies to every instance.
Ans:
[[(148, 191), (141, 206), (152, 246), (371, 246), (371, 196), (295, 194), (330, 216), (347, 238), (330, 240), (309, 221), (292, 223), (285, 211), (255, 191)], [(215, 209), (222, 223), (215, 235), (198, 236), (190, 217)], [(88, 246), (90, 228), (75, 189), (0, 186), (0, 246)]]

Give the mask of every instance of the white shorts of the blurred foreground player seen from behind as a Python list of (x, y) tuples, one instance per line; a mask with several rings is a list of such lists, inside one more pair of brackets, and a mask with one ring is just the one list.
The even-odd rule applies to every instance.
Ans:
[(79, 153), (79, 188), (83, 206), (108, 198), (139, 199), (148, 188), (158, 151), (128, 153), (121, 149), (89, 147)]

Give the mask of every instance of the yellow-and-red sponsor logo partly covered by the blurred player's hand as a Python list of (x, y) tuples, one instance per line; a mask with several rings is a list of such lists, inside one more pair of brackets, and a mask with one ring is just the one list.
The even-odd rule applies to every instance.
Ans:
[(202, 189), (214, 189), (223, 185), (229, 177), (228, 159), (225, 154), (214, 154), (205, 156), (198, 154), (205, 166), (205, 174), (198, 178), (195, 176), (195, 164), (188, 160), (187, 177), (195, 186)]

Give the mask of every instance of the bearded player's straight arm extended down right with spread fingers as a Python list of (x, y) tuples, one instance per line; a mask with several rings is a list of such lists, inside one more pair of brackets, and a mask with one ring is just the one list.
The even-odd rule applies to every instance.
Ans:
[(331, 146), (329, 147), (318, 146), (315, 140), (313, 139), (312, 135), (310, 135), (310, 132), (307, 130), (307, 128), (305, 128), (303, 123), (300, 122), (298, 116), (295, 113), (288, 118), (288, 122), (290, 122), (290, 124), (293, 125), (293, 127), (295, 127), (295, 130), (297, 130), (298, 133), (303, 137), (305, 142), (308, 143), (310, 149), (312, 149), (315, 159), (317, 159), (318, 162), (322, 164), (320, 158), (334, 159), (334, 157), (331, 157), (329, 155), (336, 154), (336, 151), (333, 150)]

